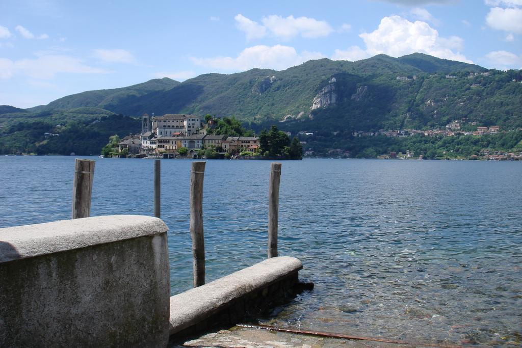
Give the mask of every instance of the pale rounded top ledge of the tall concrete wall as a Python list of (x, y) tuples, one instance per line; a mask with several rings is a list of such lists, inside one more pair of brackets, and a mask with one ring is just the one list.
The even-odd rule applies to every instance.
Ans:
[(112, 215), (0, 229), (0, 262), (92, 245), (155, 236), (168, 231), (158, 218)]

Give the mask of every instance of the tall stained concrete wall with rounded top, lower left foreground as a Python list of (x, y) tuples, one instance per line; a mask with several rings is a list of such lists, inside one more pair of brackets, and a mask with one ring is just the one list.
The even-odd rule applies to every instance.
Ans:
[(169, 301), (160, 219), (0, 229), (0, 346), (167, 346)]

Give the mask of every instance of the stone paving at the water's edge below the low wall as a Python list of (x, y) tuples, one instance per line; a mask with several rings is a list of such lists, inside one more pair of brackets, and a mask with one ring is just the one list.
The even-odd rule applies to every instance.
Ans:
[(372, 341), (340, 340), (312, 335), (273, 332), (251, 328), (234, 327), (230, 330), (207, 333), (173, 347), (227, 347), (227, 348), (316, 348), (316, 347), (410, 347)]

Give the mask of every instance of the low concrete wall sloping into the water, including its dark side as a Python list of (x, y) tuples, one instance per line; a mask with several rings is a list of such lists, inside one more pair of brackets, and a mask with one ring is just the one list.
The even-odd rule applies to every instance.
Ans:
[(295, 295), (299, 259), (273, 257), (170, 298), (171, 340), (230, 327)]

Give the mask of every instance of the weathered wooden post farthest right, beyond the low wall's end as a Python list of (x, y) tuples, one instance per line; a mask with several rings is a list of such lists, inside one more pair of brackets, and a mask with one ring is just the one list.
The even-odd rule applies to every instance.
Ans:
[(279, 215), (279, 182), (281, 163), (272, 163), (268, 190), (268, 258), (277, 256), (277, 224)]

